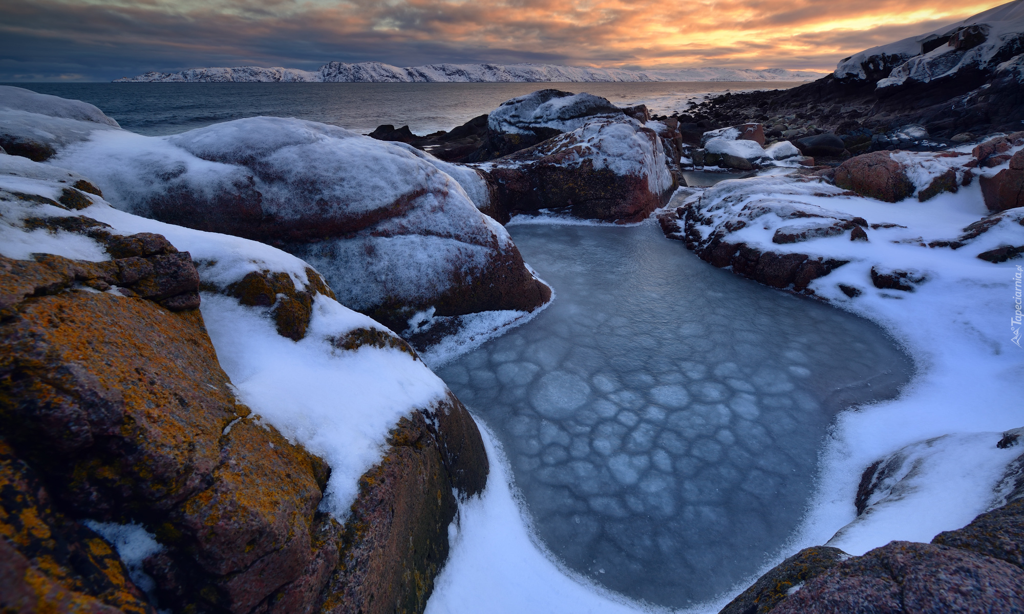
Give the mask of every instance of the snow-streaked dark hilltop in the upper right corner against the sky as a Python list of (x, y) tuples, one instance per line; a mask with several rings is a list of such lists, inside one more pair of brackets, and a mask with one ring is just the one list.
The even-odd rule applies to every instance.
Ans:
[(839, 62), (839, 79), (927, 83), (965, 70), (993, 70), (1024, 51), (1024, 2), (1014, 0), (922, 35), (865, 49)]

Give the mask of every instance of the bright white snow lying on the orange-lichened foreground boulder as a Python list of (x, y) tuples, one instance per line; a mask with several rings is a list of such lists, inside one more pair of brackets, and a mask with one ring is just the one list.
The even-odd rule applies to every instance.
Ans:
[[(49, 199), (62, 189), (59, 177), (78, 176), (52, 165), (31, 161), (26, 165), (25, 159), (15, 158), (0, 156), (0, 196), (6, 190)], [(8, 161), (13, 162), (5, 166)], [(20, 175), (10, 175), (10, 169)], [(34, 178), (47, 176), (52, 178)], [(89, 217), (110, 224), (113, 228), (108, 230), (114, 233), (163, 234), (178, 250), (189, 253), (204, 287), (222, 289), (248, 272), (270, 271), (286, 272), (297, 289), (306, 288), (305, 269), (309, 265), (291, 254), (238, 236), (139, 217), (115, 209), (98, 196), (92, 201), (90, 207), (76, 212), (45, 203), (0, 201), (0, 253), (26, 258), (28, 255), (22, 253), (25, 250), (18, 252), (20, 248), (11, 240), (14, 232), (22, 232), (26, 235), (23, 244), (36, 242), (31, 252), (82, 260), (110, 259), (102, 250), (89, 254), (72, 245), (68, 233), (58, 232), (47, 239), (45, 230), (26, 232), (17, 220), (26, 217), (18, 208), (28, 208), (35, 217)], [(61, 253), (53, 250), (55, 243), (72, 247)], [(355, 328), (387, 328), (323, 295), (316, 295), (306, 336), (298, 342), (278, 334), (269, 307), (248, 307), (234, 298), (203, 292), (200, 309), (217, 359), (240, 401), (290, 441), (301, 443), (331, 466), (322, 507), (339, 519), (346, 517), (355, 499), (359, 476), (380, 461), (388, 430), (402, 415), (428, 407), (446, 395), (444, 383), (422, 360), (408, 353), (374, 346), (338, 349), (335, 340)]]

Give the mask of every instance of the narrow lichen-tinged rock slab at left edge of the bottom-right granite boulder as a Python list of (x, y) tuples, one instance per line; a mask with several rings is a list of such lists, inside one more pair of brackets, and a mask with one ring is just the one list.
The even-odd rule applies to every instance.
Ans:
[(750, 588), (722, 608), (719, 614), (765, 614), (791, 591), (839, 565), (849, 555), (827, 545), (805, 547), (758, 578)]

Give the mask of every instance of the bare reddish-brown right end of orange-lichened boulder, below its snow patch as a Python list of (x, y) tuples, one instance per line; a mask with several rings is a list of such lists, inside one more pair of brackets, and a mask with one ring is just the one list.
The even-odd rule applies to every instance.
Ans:
[(402, 419), (389, 443), (381, 464), (359, 479), (325, 613), (422, 612), (447, 558), (453, 487), (469, 496), (486, 482), (479, 432), (454, 396)]

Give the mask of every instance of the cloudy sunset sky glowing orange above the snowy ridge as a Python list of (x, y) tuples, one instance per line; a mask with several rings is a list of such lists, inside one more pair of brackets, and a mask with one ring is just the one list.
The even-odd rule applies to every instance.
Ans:
[(0, 82), (200, 67), (542, 62), (829, 72), (1001, 2), (0, 0)]

